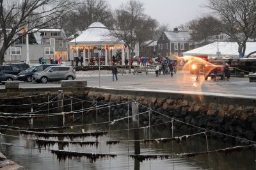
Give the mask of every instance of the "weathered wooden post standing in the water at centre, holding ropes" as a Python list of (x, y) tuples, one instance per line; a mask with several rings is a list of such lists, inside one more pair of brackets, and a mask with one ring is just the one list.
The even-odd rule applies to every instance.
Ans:
[(132, 124), (134, 134), (134, 151), (135, 155), (140, 155), (140, 134), (139, 134), (139, 116), (138, 116), (139, 104), (137, 102), (132, 103)]

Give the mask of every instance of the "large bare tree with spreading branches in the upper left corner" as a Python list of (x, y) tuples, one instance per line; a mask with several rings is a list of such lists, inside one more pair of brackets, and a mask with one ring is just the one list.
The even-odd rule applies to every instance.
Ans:
[(17, 33), (23, 30), (24, 36), (35, 28), (55, 26), (73, 7), (69, 0), (0, 0), (0, 64), (6, 50), (20, 38)]

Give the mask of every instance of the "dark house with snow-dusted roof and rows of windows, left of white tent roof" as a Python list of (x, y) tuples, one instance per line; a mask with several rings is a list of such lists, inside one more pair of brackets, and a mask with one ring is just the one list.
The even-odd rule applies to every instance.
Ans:
[(190, 40), (189, 31), (163, 31), (157, 41), (157, 54), (162, 57), (182, 56), (182, 52), (195, 49), (195, 42)]

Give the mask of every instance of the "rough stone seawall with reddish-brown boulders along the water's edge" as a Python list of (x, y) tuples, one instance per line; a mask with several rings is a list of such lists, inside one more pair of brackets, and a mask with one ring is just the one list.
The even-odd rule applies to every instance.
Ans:
[[(234, 135), (250, 141), (256, 139), (256, 107), (255, 100), (250, 98), (213, 97), (202, 95), (173, 94), (150, 92), (150, 95), (140, 96), (138, 91), (126, 91), (121, 95), (118, 90), (111, 90), (106, 93), (105, 89), (93, 89), (86, 91), (84, 97), (87, 100), (97, 100), (98, 102), (139, 102), (141, 105), (150, 107), (156, 112), (174, 118), (175, 128), (186, 130), (190, 134), (202, 132), (202, 129), (193, 125), (221, 132), (223, 134)], [(114, 92), (114, 93), (113, 93)], [(129, 92), (129, 93), (128, 93)], [(134, 95), (132, 95), (132, 93)], [(157, 94), (156, 94), (157, 93)], [(155, 95), (155, 97), (154, 97)], [(186, 99), (184, 99), (186, 98)], [(131, 106), (129, 108), (131, 115)], [(127, 105), (111, 108), (114, 118), (127, 116)], [(140, 112), (147, 111), (140, 106)], [(148, 115), (148, 114), (147, 114)], [(151, 125), (170, 121), (170, 118), (157, 113), (151, 115)], [(148, 125), (148, 116), (140, 116), (143, 125)], [(188, 124), (185, 124), (188, 123)], [(164, 124), (170, 127), (170, 123)], [(213, 132), (209, 132), (211, 137), (218, 137), (228, 143), (250, 144), (250, 141), (227, 137)]]

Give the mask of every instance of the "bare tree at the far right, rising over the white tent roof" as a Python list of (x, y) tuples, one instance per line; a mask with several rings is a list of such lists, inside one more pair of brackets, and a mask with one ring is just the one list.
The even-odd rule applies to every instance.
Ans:
[(207, 7), (218, 14), (223, 23), (221, 31), (238, 43), (243, 57), (246, 42), (256, 29), (255, 0), (209, 0)]

